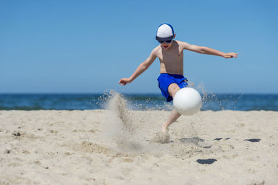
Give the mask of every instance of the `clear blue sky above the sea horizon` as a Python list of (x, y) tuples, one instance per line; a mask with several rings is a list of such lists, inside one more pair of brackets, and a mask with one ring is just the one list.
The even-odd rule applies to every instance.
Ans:
[(277, 1), (0, 0), (0, 93), (160, 93), (159, 61), (127, 86), (158, 45), (177, 40), (239, 54), (184, 51), (184, 76), (213, 93), (278, 93)]

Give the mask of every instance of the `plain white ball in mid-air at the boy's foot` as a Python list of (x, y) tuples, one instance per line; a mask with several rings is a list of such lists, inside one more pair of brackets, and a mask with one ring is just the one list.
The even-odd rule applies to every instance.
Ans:
[(174, 95), (174, 108), (182, 115), (193, 115), (202, 106), (202, 97), (194, 88), (181, 88)]

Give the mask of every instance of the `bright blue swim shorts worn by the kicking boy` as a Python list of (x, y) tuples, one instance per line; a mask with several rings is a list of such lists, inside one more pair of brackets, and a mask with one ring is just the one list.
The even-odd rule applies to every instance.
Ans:
[(168, 87), (171, 83), (177, 83), (180, 88), (188, 86), (187, 79), (180, 74), (161, 73), (158, 77), (158, 87), (161, 89), (161, 94), (166, 97), (167, 102), (171, 102), (173, 97), (168, 93)]

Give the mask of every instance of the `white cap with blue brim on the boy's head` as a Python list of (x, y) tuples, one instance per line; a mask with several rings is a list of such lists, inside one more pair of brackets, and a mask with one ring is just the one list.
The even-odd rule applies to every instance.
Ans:
[(174, 29), (170, 24), (164, 23), (158, 26), (156, 40), (172, 40), (174, 38)]

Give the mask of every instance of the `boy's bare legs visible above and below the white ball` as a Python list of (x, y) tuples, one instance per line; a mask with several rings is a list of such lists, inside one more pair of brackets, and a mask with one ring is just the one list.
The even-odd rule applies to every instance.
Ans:
[[(179, 88), (177, 83), (171, 83), (170, 86), (168, 87), (168, 92), (169, 95), (172, 96), (174, 98), (174, 95), (176, 95), (176, 93), (178, 92), (178, 90), (180, 90), (181, 88)], [(173, 109), (173, 111), (170, 113), (167, 121), (165, 122), (165, 124), (163, 124), (162, 126), (162, 131), (166, 132), (167, 128), (170, 126), (170, 124), (172, 124), (175, 120), (177, 120), (177, 118), (179, 118), (179, 116), (181, 116), (181, 114), (179, 114), (176, 109)]]

